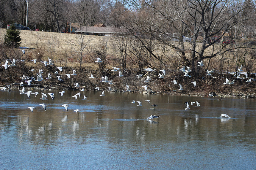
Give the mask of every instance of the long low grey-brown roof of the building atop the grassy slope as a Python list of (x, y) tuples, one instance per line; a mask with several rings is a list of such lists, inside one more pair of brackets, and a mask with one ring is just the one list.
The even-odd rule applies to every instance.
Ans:
[(122, 28), (107, 27), (81, 27), (76, 32), (98, 33), (98, 34), (125, 34), (127, 31)]

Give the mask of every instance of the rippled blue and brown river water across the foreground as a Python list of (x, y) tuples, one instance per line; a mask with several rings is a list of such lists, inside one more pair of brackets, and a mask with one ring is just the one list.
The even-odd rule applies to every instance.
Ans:
[(256, 169), (255, 99), (44, 92), (0, 91), (0, 169)]

